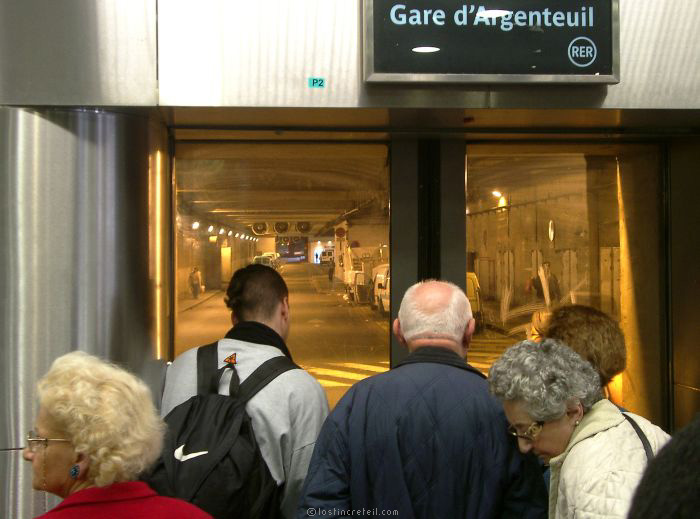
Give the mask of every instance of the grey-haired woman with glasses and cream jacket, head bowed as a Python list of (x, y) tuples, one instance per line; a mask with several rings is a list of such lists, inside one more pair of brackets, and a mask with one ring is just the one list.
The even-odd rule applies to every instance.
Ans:
[(626, 517), (648, 456), (629, 420), (654, 453), (669, 438), (664, 431), (603, 399), (590, 363), (552, 339), (506, 350), (489, 384), (520, 450), (551, 466), (550, 519)]

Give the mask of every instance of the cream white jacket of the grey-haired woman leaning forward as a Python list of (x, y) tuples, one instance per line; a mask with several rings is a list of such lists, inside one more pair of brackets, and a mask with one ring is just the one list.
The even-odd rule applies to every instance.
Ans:
[[(641, 416), (627, 414), (656, 454), (668, 434)], [(595, 403), (566, 450), (550, 461), (549, 518), (624, 519), (646, 465), (642, 442), (620, 410), (608, 400)]]

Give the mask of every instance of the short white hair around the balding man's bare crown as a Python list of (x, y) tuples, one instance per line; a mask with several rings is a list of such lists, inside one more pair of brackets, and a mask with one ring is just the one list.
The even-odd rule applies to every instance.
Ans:
[(462, 342), (467, 324), (472, 319), (472, 308), (467, 296), (454, 283), (439, 281), (452, 289), (447, 305), (426, 305), (416, 291), (434, 279), (420, 281), (406, 290), (399, 309), (401, 332), (407, 341), (416, 339), (451, 339)]

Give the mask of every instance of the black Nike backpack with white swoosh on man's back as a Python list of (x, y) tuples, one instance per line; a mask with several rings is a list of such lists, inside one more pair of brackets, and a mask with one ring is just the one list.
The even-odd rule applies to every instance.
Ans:
[[(163, 453), (142, 479), (160, 495), (189, 501), (216, 519), (281, 517), (282, 487), (260, 454), (245, 404), (298, 366), (284, 355), (274, 357), (240, 384), (233, 364), (217, 365), (217, 343), (197, 350), (197, 395), (165, 417)], [(227, 369), (231, 396), (218, 394)]]

